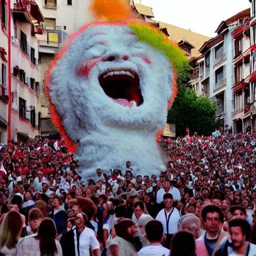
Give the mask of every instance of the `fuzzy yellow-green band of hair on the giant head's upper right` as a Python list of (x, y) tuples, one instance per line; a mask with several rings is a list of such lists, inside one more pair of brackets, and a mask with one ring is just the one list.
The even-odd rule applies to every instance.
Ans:
[(188, 59), (184, 52), (158, 28), (145, 23), (128, 23), (132, 32), (139, 41), (150, 44), (153, 48), (162, 52), (172, 63), (177, 74), (183, 69)]

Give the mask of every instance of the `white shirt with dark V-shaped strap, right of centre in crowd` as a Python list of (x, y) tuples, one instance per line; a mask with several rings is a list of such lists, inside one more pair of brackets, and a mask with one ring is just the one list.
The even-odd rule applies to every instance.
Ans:
[[(166, 216), (165, 216), (165, 208), (163, 208), (158, 212), (157, 216), (155, 217), (155, 220), (158, 220), (162, 223), (164, 234), (174, 234), (178, 231), (178, 220), (180, 218), (180, 214), (176, 208), (173, 208), (172, 213), (171, 211), (166, 212)], [(171, 215), (169, 217), (170, 213)], [(166, 226), (166, 223), (167, 223), (166, 217), (167, 219), (169, 218), (168, 232), (167, 232), (167, 226)]]

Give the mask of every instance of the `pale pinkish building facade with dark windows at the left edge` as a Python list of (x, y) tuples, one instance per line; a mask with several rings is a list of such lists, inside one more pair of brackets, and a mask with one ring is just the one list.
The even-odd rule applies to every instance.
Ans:
[[(0, 0), (0, 140), (5, 143), (8, 126), (9, 139), (17, 142), (40, 134), (39, 44), (35, 34), (43, 33), (41, 23), (44, 19), (34, 0), (10, 0), (10, 13), (9, 23), (7, 1)], [(8, 26), (10, 52), (7, 50)], [(8, 104), (11, 107), (8, 108)]]

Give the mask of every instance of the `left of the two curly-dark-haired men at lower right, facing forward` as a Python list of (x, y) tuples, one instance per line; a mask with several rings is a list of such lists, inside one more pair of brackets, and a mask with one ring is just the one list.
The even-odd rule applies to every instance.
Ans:
[(221, 224), (224, 216), (221, 209), (209, 204), (201, 212), (205, 230), (202, 232), (197, 241), (203, 241), (209, 255), (214, 255), (215, 251), (226, 242), (228, 233), (221, 230)]

